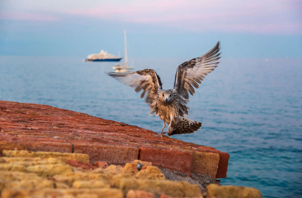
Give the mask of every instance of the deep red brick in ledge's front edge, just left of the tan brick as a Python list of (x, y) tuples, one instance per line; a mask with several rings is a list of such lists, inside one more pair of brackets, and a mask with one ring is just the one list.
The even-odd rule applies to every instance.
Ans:
[(140, 147), (139, 160), (191, 176), (192, 154), (189, 152)]

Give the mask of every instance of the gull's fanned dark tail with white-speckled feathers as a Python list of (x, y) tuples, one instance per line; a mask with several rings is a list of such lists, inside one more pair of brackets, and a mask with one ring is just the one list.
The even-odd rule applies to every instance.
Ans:
[(194, 133), (194, 131), (198, 131), (200, 127), (202, 127), (202, 123), (181, 117), (178, 123), (172, 122), (168, 135)]

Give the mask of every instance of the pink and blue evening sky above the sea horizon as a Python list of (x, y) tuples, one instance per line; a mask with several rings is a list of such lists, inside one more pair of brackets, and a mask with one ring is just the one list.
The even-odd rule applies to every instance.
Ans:
[(1, 0), (0, 55), (302, 58), (301, 0)]

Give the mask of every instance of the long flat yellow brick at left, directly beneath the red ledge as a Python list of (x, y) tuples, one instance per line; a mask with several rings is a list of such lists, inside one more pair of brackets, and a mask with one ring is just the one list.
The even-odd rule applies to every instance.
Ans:
[(59, 153), (59, 152), (31, 152), (31, 151), (11, 151), (3, 150), (3, 156), (5, 157), (40, 157), (40, 158), (59, 158), (59, 159), (76, 159), (83, 162), (89, 162), (89, 156), (81, 153)]

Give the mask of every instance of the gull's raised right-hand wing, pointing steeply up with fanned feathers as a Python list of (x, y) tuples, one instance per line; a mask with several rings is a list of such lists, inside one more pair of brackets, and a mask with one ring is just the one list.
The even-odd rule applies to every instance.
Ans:
[[(212, 72), (217, 67), (217, 60), (220, 59), (218, 53), (219, 42), (210, 51), (195, 59), (191, 59), (178, 66), (175, 75), (174, 88), (177, 88), (178, 95), (188, 99), (188, 92), (193, 95), (195, 88), (199, 88), (198, 83), (204, 80), (205, 75)], [(218, 54), (217, 54), (218, 53)]]

